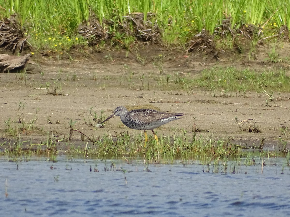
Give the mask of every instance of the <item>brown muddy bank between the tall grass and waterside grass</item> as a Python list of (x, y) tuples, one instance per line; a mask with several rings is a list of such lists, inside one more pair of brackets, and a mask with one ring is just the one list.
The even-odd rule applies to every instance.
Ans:
[(75, 54), (73, 61), (65, 56), (57, 60), (39, 55), (33, 61), (39, 64), (41, 73), (0, 73), (1, 144), (12, 139), (10, 127), (22, 141), (41, 144), (52, 137), (59, 149), (82, 146), (86, 141), (81, 141), (77, 132), (68, 141), (70, 119), (77, 121), (75, 129), (90, 138), (102, 139), (104, 134), (116, 137), (127, 130), (133, 137), (138, 136), (142, 132), (127, 128), (119, 117), (110, 119), (105, 128), (92, 126), (94, 112), (99, 118), (104, 110), (103, 117), (108, 117), (120, 105), (152, 105), (160, 111), (186, 113), (185, 118), (158, 128), (157, 135), (192, 137), (195, 128), (197, 136), (229, 139), (242, 146), (260, 146), (264, 138), (264, 148), (270, 149), (282, 147), (280, 139), (289, 140), (289, 93), (274, 93), (274, 100), (266, 103), (268, 96), (263, 93), (242, 97), (238, 93), (223, 95), (222, 91), (213, 94), (196, 87), (176, 87), (174, 82), (182, 76), (196, 77), (213, 66), (287, 68), (285, 63), (264, 61), (266, 48), (261, 48), (260, 57), (253, 61), (238, 61), (238, 54), (224, 53), (219, 62), (210, 56), (190, 53), (185, 57), (182, 52), (160, 47), (140, 50), (146, 57), (144, 62), (133, 53), (126, 57), (122, 51), (86, 57)]

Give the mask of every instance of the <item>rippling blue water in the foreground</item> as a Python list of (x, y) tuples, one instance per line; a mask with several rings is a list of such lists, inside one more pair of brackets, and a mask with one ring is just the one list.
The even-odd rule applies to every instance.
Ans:
[[(110, 160), (38, 160), (18, 162), (17, 170), (0, 159), (1, 216), (290, 216), (283, 159), (266, 161), (263, 174), (261, 165), (225, 174), (213, 166), (202, 172), (207, 166), (197, 163), (148, 165), (146, 172), (138, 162), (114, 161), (110, 170)], [(99, 172), (90, 172), (95, 164)]]

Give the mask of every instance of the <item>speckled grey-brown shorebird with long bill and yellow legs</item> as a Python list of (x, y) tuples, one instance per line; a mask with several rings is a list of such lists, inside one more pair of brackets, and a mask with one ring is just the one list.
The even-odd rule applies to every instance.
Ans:
[(127, 127), (134, 130), (144, 130), (144, 146), (146, 147), (146, 142), (148, 141), (146, 130), (151, 130), (155, 140), (158, 142), (158, 137), (153, 129), (160, 127), (163, 124), (167, 124), (173, 120), (180, 119), (180, 116), (184, 115), (184, 113), (165, 113), (153, 109), (136, 109), (128, 111), (124, 106), (119, 106), (115, 108), (114, 113), (102, 123), (116, 115), (120, 116), (121, 121)]

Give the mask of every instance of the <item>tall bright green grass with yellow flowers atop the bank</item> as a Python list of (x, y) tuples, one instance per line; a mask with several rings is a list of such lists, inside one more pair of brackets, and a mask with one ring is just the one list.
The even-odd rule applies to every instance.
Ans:
[(290, 29), (290, 0), (0, 0), (0, 5), (1, 20), (18, 14), (20, 26), (30, 36), (27, 40), (37, 49), (53, 52), (85, 45), (88, 39), (79, 36), (78, 27), (90, 26), (93, 17), (113, 43), (132, 44), (140, 32), (128, 35), (135, 33), (134, 22), (125, 16), (134, 17), (134, 13), (144, 14), (142, 19), (148, 29), (156, 25), (165, 43), (177, 45), (188, 42), (203, 29), (209, 34), (234, 33), (231, 37), (235, 38), (243, 35), (237, 30), (248, 25), (260, 28), (254, 33), (258, 37), (280, 34), (283, 26)]

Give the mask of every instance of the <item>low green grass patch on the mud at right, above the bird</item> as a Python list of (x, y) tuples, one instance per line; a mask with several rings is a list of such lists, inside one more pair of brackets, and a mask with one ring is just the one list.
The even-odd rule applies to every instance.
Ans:
[(192, 82), (207, 90), (290, 92), (290, 77), (284, 70), (255, 72), (250, 69), (238, 70), (212, 68), (202, 71), (202, 76)]

